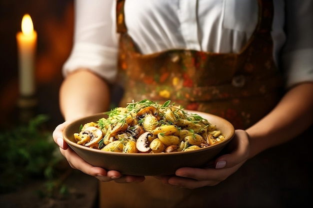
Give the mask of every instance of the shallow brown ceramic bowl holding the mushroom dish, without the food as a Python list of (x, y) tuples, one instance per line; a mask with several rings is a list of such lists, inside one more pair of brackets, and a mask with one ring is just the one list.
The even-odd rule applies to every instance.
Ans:
[(81, 118), (70, 123), (64, 129), (63, 137), (65, 142), (82, 159), (93, 166), (119, 171), (123, 175), (172, 175), (181, 167), (205, 167), (234, 135), (234, 128), (231, 123), (221, 117), (197, 111), (185, 111), (187, 113), (196, 113), (216, 125), (216, 129), (221, 131), (225, 139), (215, 145), (197, 150), (154, 154), (106, 152), (76, 144), (73, 134), (78, 133), (79, 126), (91, 121), (97, 122), (100, 118), (107, 116), (103, 113)]

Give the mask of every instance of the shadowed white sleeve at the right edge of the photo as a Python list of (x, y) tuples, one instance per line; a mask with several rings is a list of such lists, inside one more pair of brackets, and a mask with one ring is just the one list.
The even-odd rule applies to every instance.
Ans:
[(313, 82), (313, 1), (286, 0), (286, 44), (281, 61), (286, 87)]

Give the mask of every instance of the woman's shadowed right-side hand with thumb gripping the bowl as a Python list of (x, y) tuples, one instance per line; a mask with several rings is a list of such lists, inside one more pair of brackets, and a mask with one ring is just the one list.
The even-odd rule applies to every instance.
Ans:
[(213, 167), (179, 168), (175, 176), (157, 176), (156, 178), (164, 184), (188, 189), (215, 186), (236, 172), (248, 159), (248, 134), (243, 130), (235, 130), (234, 138), (226, 146), (225, 151), (227, 154), (221, 155), (212, 162)]

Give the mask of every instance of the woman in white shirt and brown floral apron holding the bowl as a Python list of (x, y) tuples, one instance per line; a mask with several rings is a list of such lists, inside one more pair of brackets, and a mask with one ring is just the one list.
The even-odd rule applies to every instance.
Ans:
[[(310, 0), (76, 0), (60, 88), (65, 122), (53, 139), (72, 168), (101, 181), (100, 207), (286, 206), (280, 195), (293, 192), (281, 192), (282, 144), (294, 146), (313, 122), (312, 8)], [(63, 142), (62, 129), (107, 111), (117, 85), (124, 89), (119, 106), (171, 100), (224, 117), (235, 137), (212, 167), (180, 168), (175, 176), (92, 167)]]

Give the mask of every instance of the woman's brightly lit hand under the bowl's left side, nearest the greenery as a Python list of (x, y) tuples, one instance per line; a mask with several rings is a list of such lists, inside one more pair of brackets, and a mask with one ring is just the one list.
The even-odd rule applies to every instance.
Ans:
[(58, 125), (52, 133), (54, 142), (60, 147), (61, 154), (65, 157), (71, 168), (82, 171), (83, 173), (94, 176), (99, 181), (109, 182), (114, 180), (116, 183), (140, 183), (144, 177), (123, 176), (117, 171), (106, 171), (100, 167), (94, 167), (80, 158), (63, 140), (62, 132), (68, 121)]

